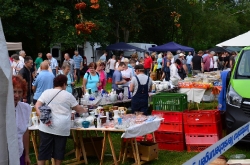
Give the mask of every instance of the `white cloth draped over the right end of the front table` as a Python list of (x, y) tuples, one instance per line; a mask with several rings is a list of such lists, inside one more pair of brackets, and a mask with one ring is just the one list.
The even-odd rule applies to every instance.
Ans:
[(122, 138), (134, 138), (137, 136), (143, 136), (149, 133), (156, 131), (161, 124), (162, 119), (155, 119), (151, 122), (136, 124), (125, 129), (125, 132), (122, 134)]

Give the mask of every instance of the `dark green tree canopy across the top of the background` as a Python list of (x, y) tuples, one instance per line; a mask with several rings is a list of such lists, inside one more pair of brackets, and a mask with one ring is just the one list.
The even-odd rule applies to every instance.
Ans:
[[(48, 51), (54, 43), (64, 50), (90, 41), (101, 44), (175, 41), (208, 49), (249, 30), (249, 0), (99, 0), (99, 9), (82, 14), (96, 24), (78, 34), (75, 0), (0, 0), (7, 41), (23, 42), (30, 54)], [(91, 5), (90, 0), (81, 0)]]

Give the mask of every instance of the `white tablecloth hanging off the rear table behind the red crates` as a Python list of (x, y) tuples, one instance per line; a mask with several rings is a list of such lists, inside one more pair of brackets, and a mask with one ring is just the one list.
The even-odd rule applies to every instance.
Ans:
[(200, 103), (204, 95), (210, 95), (211, 89), (180, 88), (179, 93), (186, 93), (188, 101)]

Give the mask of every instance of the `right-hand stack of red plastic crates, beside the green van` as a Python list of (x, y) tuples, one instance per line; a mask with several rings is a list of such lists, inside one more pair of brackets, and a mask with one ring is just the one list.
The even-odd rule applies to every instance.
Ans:
[(217, 142), (222, 136), (218, 110), (183, 112), (185, 139), (189, 152), (200, 152)]

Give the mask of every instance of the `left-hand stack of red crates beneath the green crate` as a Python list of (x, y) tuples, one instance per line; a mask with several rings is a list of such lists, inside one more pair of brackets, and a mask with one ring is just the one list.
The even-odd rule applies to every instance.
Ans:
[(183, 113), (173, 111), (152, 111), (152, 115), (161, 114), (164, 120), (155, 132), (155, 140), (161, 150), (183, 151), (185, 139), (183, 132)]

